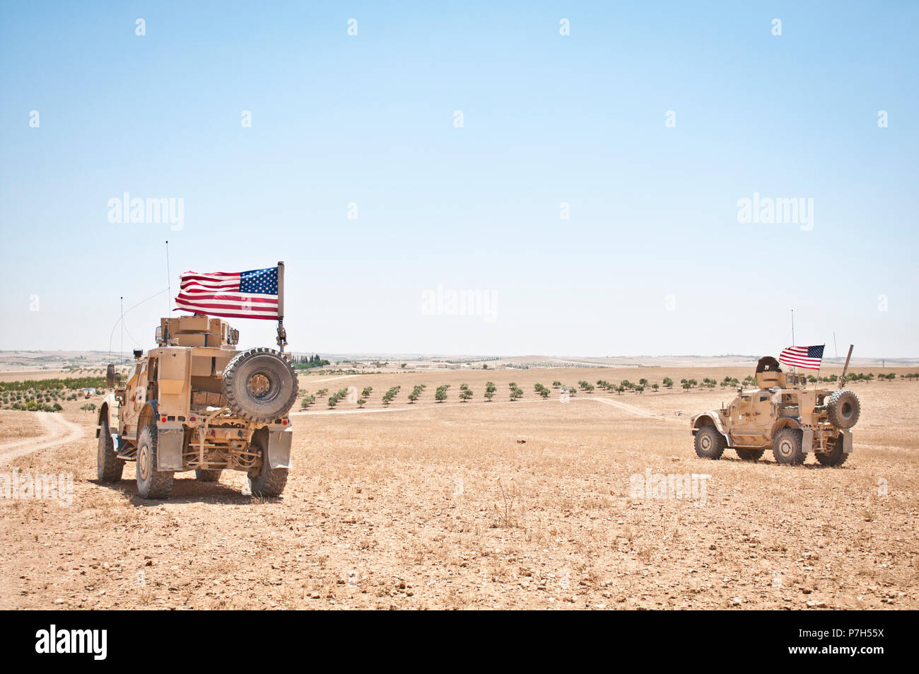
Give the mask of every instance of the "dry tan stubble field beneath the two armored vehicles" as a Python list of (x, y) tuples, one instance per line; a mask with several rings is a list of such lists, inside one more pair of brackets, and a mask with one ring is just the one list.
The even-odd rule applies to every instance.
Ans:
[[(862, 416), (841, 467), (782, 466), (769, 452), (758, 463), (732, 450), (699, 459), (689, 415), (733, 392), (685, 393), (679, 380), (751, 373), (302, 374), (311, 394), (373, 392), (363, 410), (298, 404), (294, 470), (271, 499), (244, 495), (244, 475), (224, 472), (210, 485), (180, 474), (172, 497), (144, 501), (131, 463), (119, 484), (96, 484), (84, 401), (59, 414), (3, 411), (0, 473), (73, 474), (74, 493), (70, 505), (0, 502), (0, 608), (919, 607), (919, 383), (850, 386)], [(664, 376), (673, 391), (597, 388), (568, 403), (533, 391)], [(510, 382), (525, 392), (516, 402)], [(427, 388), (409, 405), (416, 383)], [(441, 383), (451, 386), (437, 404)], [(393, 385), (401, 392), (386, 408)], [(634, 497), (630, 477), (649, 471), (710, 475), (704, 500)]]

